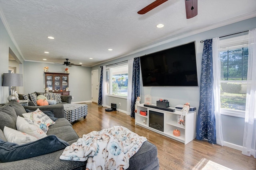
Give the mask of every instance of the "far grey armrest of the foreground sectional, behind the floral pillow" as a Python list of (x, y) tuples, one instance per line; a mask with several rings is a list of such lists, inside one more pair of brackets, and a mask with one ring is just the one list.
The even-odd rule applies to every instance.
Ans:
[(65, 118), (64, 106), (62, 104), (48, 105), (48, 106), (23, 106), (25, 109), (36, 110), (39, 108), (41, 111), (53, 111), (54, 117)]

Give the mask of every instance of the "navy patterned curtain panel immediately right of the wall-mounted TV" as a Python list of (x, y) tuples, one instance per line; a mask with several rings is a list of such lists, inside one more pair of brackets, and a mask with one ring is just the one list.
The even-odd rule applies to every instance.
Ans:
[(212, 71), (212, 39), (204, 41), (200, 83), (200, 105), (196, 122), (196, 139), (216, 144)]

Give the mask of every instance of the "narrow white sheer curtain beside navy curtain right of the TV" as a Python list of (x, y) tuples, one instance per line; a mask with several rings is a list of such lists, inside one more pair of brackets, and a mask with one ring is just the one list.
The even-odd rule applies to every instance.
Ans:
[(222, 123), (220, 115), (220, 39), (212, 39), (213, 96), (216, 127), (216, 143), (223, 146)]

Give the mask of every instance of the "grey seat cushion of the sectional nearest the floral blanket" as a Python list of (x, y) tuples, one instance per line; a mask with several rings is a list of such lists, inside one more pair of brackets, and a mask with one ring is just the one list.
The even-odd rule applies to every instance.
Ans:
[(67, 142), (78, 139), (78, 135), (76, 134), (72, 126), (49, 128), (47, 135), (56, 135), (58, 138)]

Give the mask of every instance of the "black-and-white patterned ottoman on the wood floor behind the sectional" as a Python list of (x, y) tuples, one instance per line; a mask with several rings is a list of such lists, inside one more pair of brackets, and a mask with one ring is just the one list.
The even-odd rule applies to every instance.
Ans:
[(63, 104), (64, 115), (70, 123), (80, 119), (81, 117), (86, 118), (87, 115), (87, 104)]

